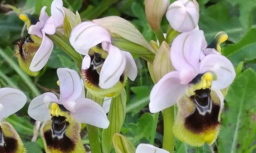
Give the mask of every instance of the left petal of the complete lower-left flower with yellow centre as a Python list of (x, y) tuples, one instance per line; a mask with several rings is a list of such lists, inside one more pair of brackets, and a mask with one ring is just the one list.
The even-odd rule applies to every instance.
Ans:
[(57, 96), (53, 93), (44, 93), (35, 97), (29, 104), (28, 115), (34, 120), (45, 122), (50, 119), (48, 103), (59, 102)]

